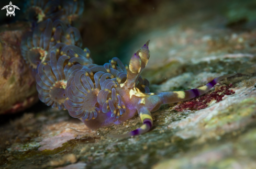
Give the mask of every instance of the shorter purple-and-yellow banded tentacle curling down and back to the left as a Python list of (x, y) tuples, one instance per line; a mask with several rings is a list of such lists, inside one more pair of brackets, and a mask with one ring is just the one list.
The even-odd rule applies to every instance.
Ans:
[(125, 134), (120, 134), (120, 135), (109, 134), (109, 137), (121, 139), (121, 138), (126, 138), (131, 136), (137, 136), (137, 135), (148, 132), (153, 126), (153, 119), (152, 119), (151, 113), (149, 109), (144, 105), (138, 105), (137, 109), (143, 125), (140, 128)]

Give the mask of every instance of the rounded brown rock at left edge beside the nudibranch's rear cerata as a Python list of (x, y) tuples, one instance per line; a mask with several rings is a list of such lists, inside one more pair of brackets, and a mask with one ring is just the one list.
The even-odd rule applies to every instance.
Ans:
[[(17, 28), (20, 26), (19, 28)], [(0, 114), (24, 110), (38, 101), (35, 79), (20, 55), (20, 41), (25, 26), (0, 32)]]

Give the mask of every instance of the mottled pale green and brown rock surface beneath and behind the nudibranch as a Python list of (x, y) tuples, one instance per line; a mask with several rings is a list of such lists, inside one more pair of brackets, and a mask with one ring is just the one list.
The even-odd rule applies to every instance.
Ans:
[[(250, 7), (256, 4), (228, 3), (155, 4), (152, 10), (157, 12), (138, 17), (132, 31), (169, 17), (172, 21), (136, 35), (123, 43), (123, 51), (130, 58), (140, 42), (151, 40), (151, 58), (142, 75), (150, 81), (151, 92), (183, 91), (220, 75), (237, 72), (236, 76), (203, 96), (161, 106), (152, 112), (150, 132), (127, 139), (108, 134), (137, 129), (139, 116), (91, 130), (67, 111), (30, 109), (2, 121), (0, 168), (255, 168), (256, 18)], [(111, 12), (113, 3), (109, 4)], [(109, 39), (109, 46), (117, 43), (113, 41)]]

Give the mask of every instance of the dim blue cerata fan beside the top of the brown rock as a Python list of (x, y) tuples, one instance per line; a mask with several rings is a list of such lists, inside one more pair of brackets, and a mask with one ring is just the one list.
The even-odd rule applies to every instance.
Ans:
[(57, 43), (81, 47), (80, 32), (67, 27), (61, 20), (52, 22), (47, 19), (40, 22), (33, 32), (25, 33), (21, 40), (21, 55), (32, 69), (37, 69), (40, 63), (50, 60), (51, 48)]

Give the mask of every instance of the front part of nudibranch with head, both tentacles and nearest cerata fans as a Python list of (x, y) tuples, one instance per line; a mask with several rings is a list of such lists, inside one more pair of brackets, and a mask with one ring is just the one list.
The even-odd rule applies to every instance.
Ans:
[(119, 125), (138, 113), (143, 123), (140, 128), (112, 137), (136, 136), (150, 130), (151, 112), (161, 105), (205, 94), (220, 80), (236, 74), (217, 77), (205, 86), (187, 91), (149, 93), (149, 82), (140, 76), (150, 57), (148, 45), (149, 41), (132, 55), (129, 66), (113, 58), (103, 66), (85, 65), (72, 72), (65, 88), (64, 105), (69, 114), (97, 129)]

